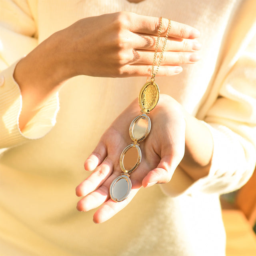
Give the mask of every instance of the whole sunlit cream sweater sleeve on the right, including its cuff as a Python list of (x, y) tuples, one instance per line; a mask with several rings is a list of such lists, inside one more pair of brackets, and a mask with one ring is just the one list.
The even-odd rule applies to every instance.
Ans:
[(209, 175), (187, 192), (227, 193), (243, 186), (256, 161), (256, 36), (234, 64), (204, 119), (214, 152)]

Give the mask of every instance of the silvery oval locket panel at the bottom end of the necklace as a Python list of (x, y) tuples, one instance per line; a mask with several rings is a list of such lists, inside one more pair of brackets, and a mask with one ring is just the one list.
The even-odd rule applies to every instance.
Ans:
[(116, 202), (122, 202), (129, 196), (131, 188), (132, 182), (129, 174), (122, 173), (112, 181), (109, 189), (110, 197)]

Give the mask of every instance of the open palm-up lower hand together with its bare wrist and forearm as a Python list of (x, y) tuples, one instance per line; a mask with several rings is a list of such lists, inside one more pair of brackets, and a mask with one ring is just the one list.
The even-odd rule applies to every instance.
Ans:
[(136, 99), (106, 130), (84, 163), (85, 170), (95, 170), (76, 188), (77, 196), (84, 196), (77, 209), (86, 212), (101, 206), (94, 214), (95, 223), (102, 223), (122, 210), (142, 186), (147, 188), (156, 183), (171, 186), (170, 180), (179, 164), (192, 180), (209, 171), (213, 150), (210, 131), (173, 98), (161, 94), (157, 106), (149, 114), (153, 124), (150, 134), (140, 143), (143, 157), (130, 176), (131, 193), (122, 202), (112, 201), (110, 184), (122, 173), (120, 154), (131, 143), (127, 127), (139, 114)]

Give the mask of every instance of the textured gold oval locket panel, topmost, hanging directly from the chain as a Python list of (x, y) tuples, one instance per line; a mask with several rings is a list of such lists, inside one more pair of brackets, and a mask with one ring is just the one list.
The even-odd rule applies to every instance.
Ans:
[(155, 82), (147, 82), (140, 90), (139, 105), (143, 113), (149, 113), (159, 100), (159, 88)]

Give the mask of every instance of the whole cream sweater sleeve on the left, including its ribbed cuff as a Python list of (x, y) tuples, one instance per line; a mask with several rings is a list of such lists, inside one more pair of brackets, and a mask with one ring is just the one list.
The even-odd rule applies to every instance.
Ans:
[(54, 94), (22, 132), (20, 88), (13, 78), (16, 63), (37, 46), (36, 23), (27, 1), (0, 0), (0, 148), (44, 136), (54, 126), (58, 94)]

